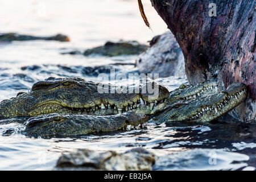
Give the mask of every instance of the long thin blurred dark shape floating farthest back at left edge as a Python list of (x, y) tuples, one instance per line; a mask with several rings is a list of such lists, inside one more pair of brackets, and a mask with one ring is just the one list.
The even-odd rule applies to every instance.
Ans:
[(57, 34), (55, 36), (31, 36), (22, 35), (16, 33), (0, 34), (0, 42), (11, 42), (11, 41), (27, 41), (27, 40), (56, 40), (60, 42), (69, 42), (68, 36), (63, 34)]

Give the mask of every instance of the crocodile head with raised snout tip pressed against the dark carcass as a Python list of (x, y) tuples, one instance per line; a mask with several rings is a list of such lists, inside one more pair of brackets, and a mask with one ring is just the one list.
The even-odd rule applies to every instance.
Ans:
[(170, 121), (213, 121), (241, 104), (246, 97), (246, 86), (234, 83), (222, 92), (197, 100), (180, 101), (159, 110), (154, 118), (158, 122)]

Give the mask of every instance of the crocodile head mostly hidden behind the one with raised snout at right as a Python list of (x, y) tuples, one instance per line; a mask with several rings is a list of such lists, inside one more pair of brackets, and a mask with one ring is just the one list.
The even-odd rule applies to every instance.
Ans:
[(179, 100), (193, 100), (199, 97), (210, 96), (218, 93), (217, 81), (206, 81), (196, 85), (180, 85), (179, 88), (170, 92), (167, 105), (176, 103)]

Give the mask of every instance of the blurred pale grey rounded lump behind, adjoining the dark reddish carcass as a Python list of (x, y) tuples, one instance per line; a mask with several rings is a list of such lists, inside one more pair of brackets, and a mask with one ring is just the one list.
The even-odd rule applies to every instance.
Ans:
[(171, 32), (155, 36), (150, 46), (136, 60), (135, 67), (141, 73), (158, 73), (159, 77), (185, 77), (184, 56)]

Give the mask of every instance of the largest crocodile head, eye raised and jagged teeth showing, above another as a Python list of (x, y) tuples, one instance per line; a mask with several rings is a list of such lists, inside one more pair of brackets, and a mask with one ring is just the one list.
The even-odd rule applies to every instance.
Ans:
[(97, 82), (76, 77), (50, 77), (36, 82), (30, 92), (18, 93), (16, 97), (2, 101), (0, 116), (32, 117), (51, 113), (112, 115), (128, 110), (152, 114), (166, 105), (169, 92), (164, 86), (151, 82), (158, 86), (158, 94), (149, 93), (144, 89), (148, 83), (129, 87), (127, 93), (112, 93), (113, 85), (109, 84), (108, 93), (101, 93)]

